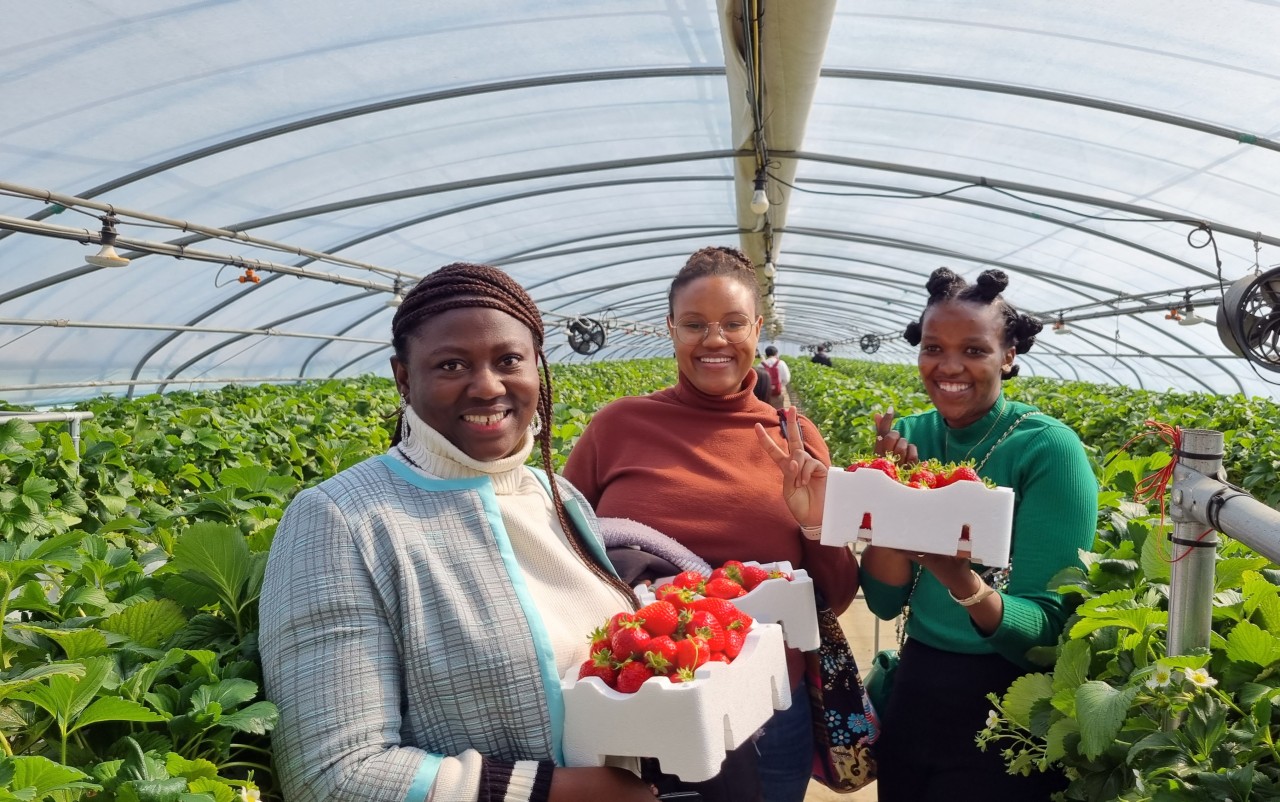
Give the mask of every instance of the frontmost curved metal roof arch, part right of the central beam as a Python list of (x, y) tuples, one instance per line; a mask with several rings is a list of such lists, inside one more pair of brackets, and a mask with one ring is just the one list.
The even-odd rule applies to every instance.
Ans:
[(936, 86), (952, 90), (965, 90), (970, 92), (1014, 95), (1018, 97), (1044, 100), (1055, 104), (1083, 106), (1087, 109), (1108, 111), (1111, 114), (1121, 114), (1124, 116), (1135, 116), (1144, 120), (1151, 120), (1153, 123), (1161, 123), (1164, 125), (1172, 125), (1175, 128), (1187, 128), (1197, 133), (1204, 133), (1212, 137), (1231, 139), (1233, 142), (1238, 142), (1240, 145), (1256, 145), (1257, 147), (1261, 148), (1280, 151), (1280, 142), (1270, 139), (1267, 137), (1261, 137), (1256, 133), (1238, 130), (1234, 128), (1228, 128), (1225, 125), (1216, 125), (1213, 123), (1206, 123), (1202, 120), (1192, 119), (1189, 116), (1181, 116), (1178, 114), (1169, 114), (1166, 111), (1156, 111), (1155, 109), (1144, 109), (1142, 106), (1121, 104), (1112, 100), (1102, 100), (1098, 97), (1087, 97), (1084, 95), (1073, 95), (1070, 92), (1037, 90), (1033, 87), (1016, 86), (1011, 83), (974, 81), (972, 78), (952, 78), (947, 75), (928, 75), (919, 73), (896, 73), (890, 70), (876, 70), (876, 69), (824, 68), (820, 74), (823, 78), (842, 78), (849, 81), (879, 81), (891, 83), (911, 83), (918, 86)]

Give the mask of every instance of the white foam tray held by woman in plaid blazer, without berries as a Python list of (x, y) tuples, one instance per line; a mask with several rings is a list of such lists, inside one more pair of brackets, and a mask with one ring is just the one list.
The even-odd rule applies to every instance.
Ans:
[(756, 623), (737, 659), (708, 663), (690, 682), (666, 677), (621, 693), (598, 677), (564, 673), (564, 764), (603, 766), (608, 756), (657, 757), (689, 783), (719, 774), (724, 755), (742, 746), (774, 710), (791, 706), (782, 629)]

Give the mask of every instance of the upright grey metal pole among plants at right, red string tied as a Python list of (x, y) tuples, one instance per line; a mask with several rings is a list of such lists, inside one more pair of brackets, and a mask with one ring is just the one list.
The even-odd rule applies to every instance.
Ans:
[(1179, 486), (1179, 475), (1192, 473), (1217, 476), (1222, 469), (1222, 432), (1206, 429), (1184, 429), (1181, 454), (1174, 469), (1172, 553), (1169, 596), (1169, 654), (1185, 655), (1197, 649), (1208, 649), (1210, 625), (1213, 615), (1213, 563), (1217, 559), (1217, 532), (1212, 528), (1203, 537), (1203, 518), (1197, 518), (1184, 505), (1185, 490)]

